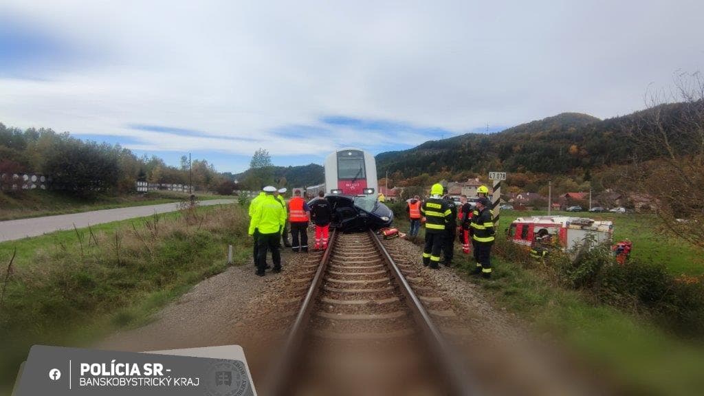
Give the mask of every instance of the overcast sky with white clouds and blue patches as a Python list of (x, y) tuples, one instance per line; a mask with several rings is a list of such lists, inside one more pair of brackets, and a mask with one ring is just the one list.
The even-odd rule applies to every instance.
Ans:
[(264, 147), (298, 165), (630, 113), (704, 68), (703, 37), (701, 0), (2, 0), (0, 122), (171, 164), (243, 171)]

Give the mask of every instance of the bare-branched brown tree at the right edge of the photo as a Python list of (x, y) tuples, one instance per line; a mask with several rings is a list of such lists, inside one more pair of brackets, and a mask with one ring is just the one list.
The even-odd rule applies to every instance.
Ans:
[(662, 228), (704, 248), (704, 78), (676, 75), (672, 89), (647, 101), (626, 126), (638, 149), (624, 182), (655, 204)]

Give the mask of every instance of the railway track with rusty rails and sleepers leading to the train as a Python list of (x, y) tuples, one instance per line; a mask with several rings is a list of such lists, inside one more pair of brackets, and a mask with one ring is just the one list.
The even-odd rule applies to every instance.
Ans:
[[(334, 233), (296, 314), (269, 395), (469, 395), (463, 364), (372, 232)], [(417, 286), (424, 290), (422, 286)]]

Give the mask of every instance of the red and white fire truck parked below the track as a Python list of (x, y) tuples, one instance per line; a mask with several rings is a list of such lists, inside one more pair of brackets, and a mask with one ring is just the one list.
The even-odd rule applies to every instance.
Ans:
[(613, 223), (569, 216), (519, 217), (508, 228), (508, 238), (531, 248), (540, 258), (551, 249), (570, 251), (591, 235), (594, 244), (611, 242)]

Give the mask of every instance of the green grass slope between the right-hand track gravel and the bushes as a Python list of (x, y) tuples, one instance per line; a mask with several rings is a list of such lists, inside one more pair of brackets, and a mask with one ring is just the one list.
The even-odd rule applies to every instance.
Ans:
[[(455, 258), (463, 256), (455, 253)], [(704, 346), (681, 340), (648, 321), (612, 307), (592, 304), (574, 290), (555, 287), (534, 270), (494, 256), (491, 280), (472, 277), (506, 307), (570, 346), (586, 364), (614, 378), (629, 392), (693, 395), (704, 388)], [(466, 278), (474, 261), (459, 260)]]

